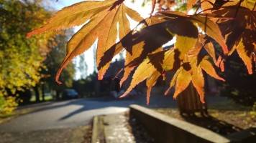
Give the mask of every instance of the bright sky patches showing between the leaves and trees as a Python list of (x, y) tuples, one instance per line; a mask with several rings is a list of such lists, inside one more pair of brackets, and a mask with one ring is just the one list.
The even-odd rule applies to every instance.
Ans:
[[(65, 6), (70, 6), (72, 4), (76, 4), (78, 2), (81, 2), (83, 0), (58, 0), (57, 2), (55, 0), (50, 0), (50, 5), (56, 10), (59, 11), (61, 9), (63, 9)], [(126, 0), (124, 1), (124, 4), (126, 4), (126, 6), (128, 6), (131, 9), (136, 10), (142, 17), (146, 18), (147, 16), (149, 16), (150, 11), (151, 11), (151, 5), (147, 4), (145, 7), (142, 7), (142, 0), (135, 0), (134, 4), (131, 2), (132, 0)], [(131, 29), (134, 28), (134, 26), (137, 25), (137, 22), (131, 21)], [(74, 31), (78, 31), (79, 29), (81, 29), (81, 26), (76, 26), (74, 28)], [(94, 48), (96, 48), (96, 46), (93, 46)], [(86, 64), (88, 66), (88, 71), (87, 71), (87, 75), (92, 74), (93, 73), (93, 48), (88, 49), (84, 54), (82, 54), (83, 56), (85, 56), (85, 60), (86, 60)], [(115, 56), (113, 60), (118, 59), (119, 56)], [(76, 64), (76, 77), (75, 79), (80, 79), (81, 78), (81, 72), (78, 71), (78, 63), (79, 63), (79, 57), (76, 57), (75, 59), (73, 59), (74, 64)]]

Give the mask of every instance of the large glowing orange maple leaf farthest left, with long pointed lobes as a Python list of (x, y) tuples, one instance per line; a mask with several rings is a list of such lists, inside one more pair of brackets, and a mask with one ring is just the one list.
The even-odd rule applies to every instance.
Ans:
[[(122, 2), (123, 0), (83, 1), (78, 4), (68, 6), (58, 11), (55, 16), (48, 21), (48, 24), (27, 34), (28, 37), (32, 34), (67, 29), (72, 26), (81, 25), (89, 20), (88, 23), (85, 24), (70, 39), (70, 41), (68, 41), (67, 55), (56, 76), (56, 81), (59, 84), (60, 82), (58, 81), (58, 78), (62, 69), (75, 56), (78, 56), (89, 49), (96, 39), (98, 39), (96, 60), (97, 66), (99, 66), (100, 59), (104, 55), (105, 51), (116, 43), (118, 35), (117, 24), (119, 24), (119, 39), (122, 39), (129, 33), (130, 29), (127, 15), (135, 21), (142, 20), (136, 11), (129, 9)], [(118, 51), (121, 50), (122, 49), (119, 49)], [(103, 78), (109, 64), (110, 61), (99, 68), (99, 79)]]

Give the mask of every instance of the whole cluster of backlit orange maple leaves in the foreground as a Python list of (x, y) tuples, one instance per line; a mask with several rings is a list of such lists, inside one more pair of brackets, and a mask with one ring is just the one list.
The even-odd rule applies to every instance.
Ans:
[[(65, 7), (52, 16), (47, 24), (27, 34), (34, 34), (68, 29), (84, 24), (67, 44), (67, 55), (57, 73), (75, 56), (89, 49), (98, 39), (96, 62), (99, 79), (103, 79), (111, 59), (125, 49), (126, 59), (122, 84), (134, 71), (132, 82), (122, 97), (137, 84), (147, 80), (147, 103), (150, 89), (165, 71), (175, 71), (170, 87), (175, 85), (174, 98), (183, 92), (192, 82), (204, 102), (204, 77), (206, 71), (211, 77), (224, 81), (216, 74), (214, 64), (224, 71), (224, 61), (233, 51), (237, 51), (247, 70), (252, 74), (252, 60), (255, 59), (255, 1), (253, 0), (207, 0), (201, 1), (201, 11), (193, 15), (188, 11), (198, 0), (187, 1), (186, 13), (162, 9), (152, 0), (150, 17), (142, 19), (140, 14), (125, 6), (123, 0), (83, 1)], [(158, 1), (159, 2), (159, 1)], [(167, 4), (170, 1), (165, 1)], [(178, 4), (184, 1), (178, 1)], [(177, 3), (176, 3), (177, 4)], [(154, 15), (155, 6), (158, 6)], [(167, 6), (170, 7), (170, 6)], [(159, 9), (161, 8), (161, 9)], [(199, 7), (198, 7), (199, 8)], [(138, 21), (134, 28), (129, 28), (129, 20)], [(116, 43), (117, 37), (120, 39)], [(176, 38), (170, 49), (163, 50), (163, 44)], [(221, 46), (221, 53), (216, 55), (212, 41)], [(209, 56), (202, 51), (206, 50)]]

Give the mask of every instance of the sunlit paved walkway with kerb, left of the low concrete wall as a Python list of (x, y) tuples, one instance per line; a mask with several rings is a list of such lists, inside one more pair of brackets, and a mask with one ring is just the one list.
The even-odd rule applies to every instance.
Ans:
[(92, 142), (154, 143), (147, 130), (129, 112), (94, 117)]

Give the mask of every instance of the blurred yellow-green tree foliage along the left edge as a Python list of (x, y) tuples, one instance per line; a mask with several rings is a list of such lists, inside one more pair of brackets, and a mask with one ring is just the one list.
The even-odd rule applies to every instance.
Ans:
[(52, 36), (24, 36), (51, 16), (40, 4), (41, 1), (0, 0), (0, 97), (6, 102), (15, 101), (14, 97), (6, 98), (8, 92), (24, 91), (40, 80), (47, 41)]

